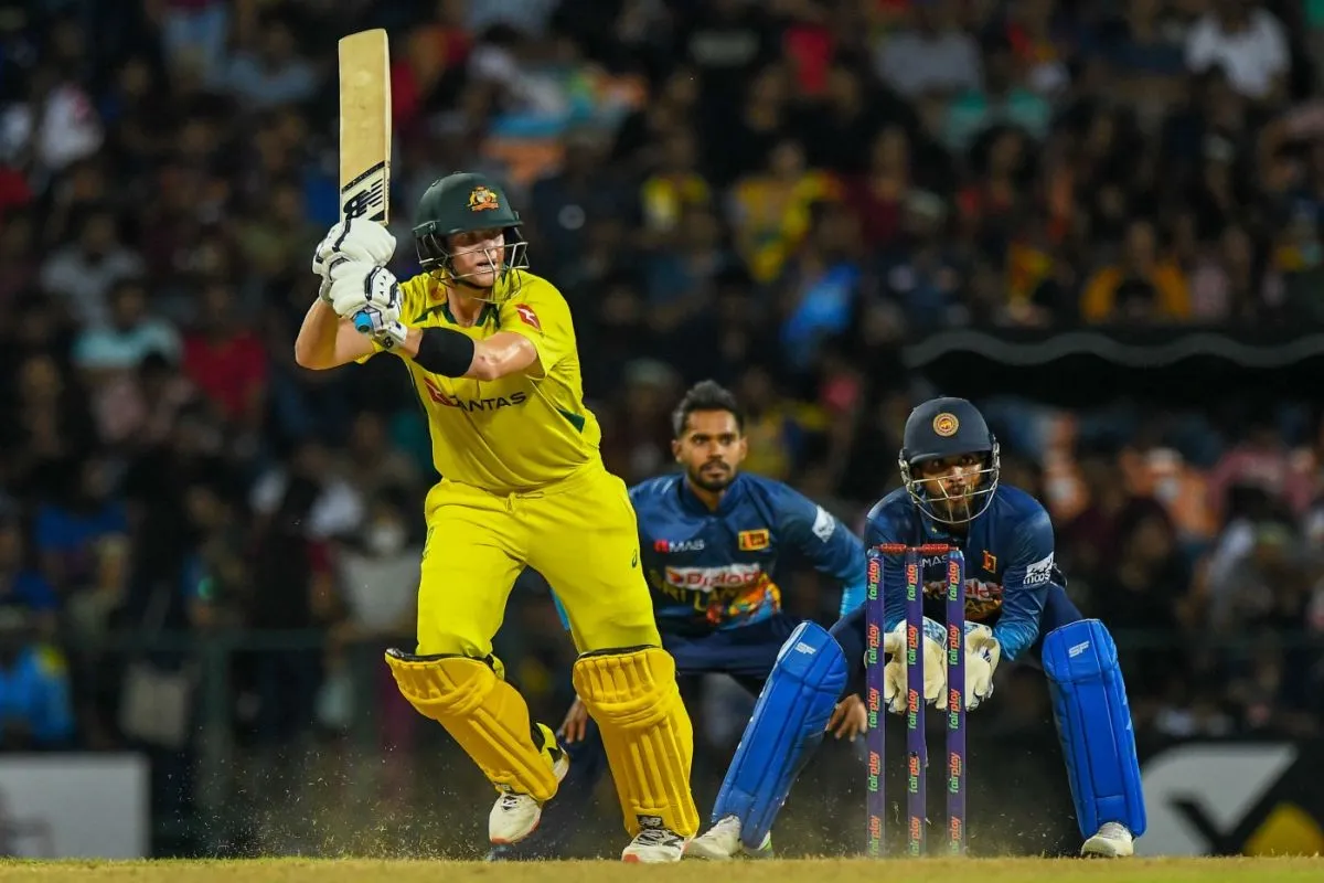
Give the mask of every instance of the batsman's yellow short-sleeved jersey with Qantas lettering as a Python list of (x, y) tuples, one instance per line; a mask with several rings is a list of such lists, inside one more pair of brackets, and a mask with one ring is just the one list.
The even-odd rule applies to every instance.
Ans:
[(511, 494), (601, 462), (602, 432), (584, 406), (575, 326), (556, 286), (512, 270), (496, 291), (498, 298), (510, 297), (486, 304), (467, 328), (455, 324), (446, 290), (432, 277), (401, 282), (400, 291), (400, 320), (406, 326), (454, 328), (475, 340), (514, 331), (538, 349), (538, 361), (527, 372), (490, 381), (442, 377), (402, 359), (428, 413), (432, 461), (444, 478)]

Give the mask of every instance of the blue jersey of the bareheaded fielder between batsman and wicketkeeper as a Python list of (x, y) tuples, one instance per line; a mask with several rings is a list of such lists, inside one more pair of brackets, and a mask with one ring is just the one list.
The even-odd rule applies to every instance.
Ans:
[(710, 510), (683, 475), (630, 488), (639, 553), (658, 629), (703, 634), (737, 629), (781, 609), (777, 563), (798, 551), (842, 582), (842, 613), (865, 600), (865, 545), (828, 510), (759, 475), (740, 474)]

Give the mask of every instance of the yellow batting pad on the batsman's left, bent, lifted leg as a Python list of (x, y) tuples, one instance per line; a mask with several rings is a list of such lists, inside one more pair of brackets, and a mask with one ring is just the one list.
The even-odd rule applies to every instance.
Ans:
[(388, 650), (387, 665), (409, 704), (445, 727), (494, 785), (539, 802), (556, 793), (556, 774), (534, 744), (524, 698), (486, 663)]

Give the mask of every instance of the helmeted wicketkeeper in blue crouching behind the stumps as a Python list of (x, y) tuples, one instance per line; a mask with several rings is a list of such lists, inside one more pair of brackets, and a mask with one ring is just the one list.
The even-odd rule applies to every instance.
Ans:
[[(1049, 679), (1054, 718), (1083, 838), (1082, 854), (1125, 857), (1144, 834), (1140, 764), (1117, 666), (1098, 620), (1067, 597), (1054, 563), (1053, 524), (1037, 499), (1000, 485), (998, 443), (964, 398), (933, 398), (906, 422), (899, 466), (904, 487), (869, 514), (865, 541), (955, 544), (965, 555), (965, 700), (993, 694), (1002, 662), (1029, 662)], [(904, 711), (904, 561), (883, 559), (887, 708)], [(925, 559), (924, 696), (945, 707), (944, 559)], [(863, 708), (866, 610), (830, 631), (800, 629), (769, 675), (727, 772), (714, 826), (686, 855), (731, 858), (767, 843), (773, 819), (825, 725)], [(886, 763), (886, 761), (884, 761)]]

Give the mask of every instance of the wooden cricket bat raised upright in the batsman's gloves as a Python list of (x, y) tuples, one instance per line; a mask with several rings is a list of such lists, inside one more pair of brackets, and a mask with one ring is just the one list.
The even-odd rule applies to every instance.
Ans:
[[(340, 212), (385, 224), (391, 218), (391, 49), (381, 28), (339, 42)], [(359, 331), (372, 320), (354, 318)]]

